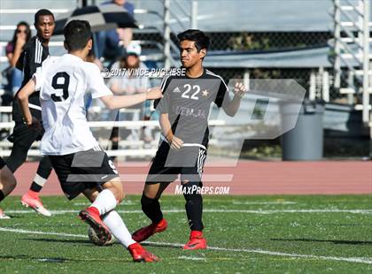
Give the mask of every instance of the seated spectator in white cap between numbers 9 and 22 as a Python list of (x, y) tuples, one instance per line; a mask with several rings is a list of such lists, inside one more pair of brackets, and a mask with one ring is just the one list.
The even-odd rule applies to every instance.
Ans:
[[(112, 65), (112, 71), (116, 69), (125, 70), (125, 73), (119, 76), (112, 77), (107, 86), (111, 88), (114, 95), (134, 95), (138, 93), (146, 92), (150, 88), (150, 83), (147, 77), (141, 77), (136, 72), (147, 70), (146, 65), (140, 61), (141, 46), (136, 42), (130, 42), (127, 47), (127, 53), (120, 58), (120, 61)], [(137, 71), (136, 71), (137, 70)], [(121, 113), (120, 118), (117, 116), (117, 120), (143, 120), (144, 115), (144, 103), (137, 104), (130, 108), (130, 112)], [(144, 131), (148, 132), (148, 131)], [(140, 133), (136, 130), (125, 131), (121, 133), (129, 133), (128, 140), (138, 141)], [(117, 149), (119, 138), (119, 129), (112, 129), (112, 149)], [(145, 134), (143, 141), (151, 141), (151, 134)]]

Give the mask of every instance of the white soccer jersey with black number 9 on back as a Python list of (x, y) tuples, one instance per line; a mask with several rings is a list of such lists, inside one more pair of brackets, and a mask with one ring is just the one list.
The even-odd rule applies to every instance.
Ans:
[(90, 96), (112, 95), (99, 68), (80, 57), (48, 57), (34, 74), (40, 90), (43, 127), (42, 155), (63, 156), (98, 146), (90, 132), (86, 105)]

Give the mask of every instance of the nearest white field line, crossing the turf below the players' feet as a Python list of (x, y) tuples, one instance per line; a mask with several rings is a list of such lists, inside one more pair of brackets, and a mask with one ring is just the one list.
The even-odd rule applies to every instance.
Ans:
[[(23, 233), (23, 234), (41, 234), (41, 235), (53, 235), (61, 237), (76, 237), (88, 239), (87, 235), (82, 234), (69, 234), (69, 233), (59, 233), (59, 232), (38, 232), (38, 231), (28, 231), (24, 229), (16, 228), (6, 228), (0, 227), (0, 232), (13, 232), (13, 233)], [(174, 244), (167, 242), (155, 242), (155, 241), (144, 241), (144, 243), (152, 244), (154, 246), (161, 247), (182, 247), (182, 244)], [(208, 247), (210, 250), (215, 251), (227, 251), (227, 252), (244, 252), (244, 253), (256, 253), (263, 255), (275, 255), (275, 256), (284, 256), (292, 258), (306, 258), (306, 259), (315, 259), (315, 260), (325, 260), (325, 261), (340, 261), (348, 263), (366, 263), (372, 264), (372, 257), (335, 257), (335, 256), (321, 256), (321, 255), (304, 255), (304, 254), (293, 254), (293, 253), (283, 253), (277, 251), (269, 251), (262, 249), (248, 249), (248, 248), (225, 248), (225, 247)], [(184, 259), (184, 258), (181, 258)]]

